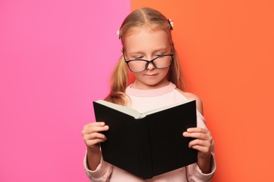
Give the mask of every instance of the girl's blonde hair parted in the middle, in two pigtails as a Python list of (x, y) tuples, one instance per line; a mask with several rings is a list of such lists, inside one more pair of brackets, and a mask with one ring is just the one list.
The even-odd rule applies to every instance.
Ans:
[[(120, 36), (123, 44), (123, 39), (138, 31), (141, 28), (148, 28), (152, 31), (165, 31), (169, 35), (169, 40), (172, 45), (171, 36), (171, 23), (159, 11), (152, 8), (140, 8), (130, 13), (122, 23), (120, 28)], [(105, 100), (115, 104), (126, 104), (126, 87), (129, 85), (129, 72), (124, 57), (121, 56), (117, 62), (115, 69), (110, 77), (110, 94), (107, 95)], [(177, 52), (174, 49), (173, 62), (169, 68), (167, 79), (174, 83), (178, 89), (183, 90), (183, 82), (181, 76), (180, 65), (178, 61)]]

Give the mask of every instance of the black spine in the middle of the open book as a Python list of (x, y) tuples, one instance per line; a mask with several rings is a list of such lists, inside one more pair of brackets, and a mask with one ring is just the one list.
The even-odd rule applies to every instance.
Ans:
[(152, 179), (152, 157), (150, 150), (150, 134), (148, 130), (148, 121), (145, 118), (136, 120), (137, 148), (140, 165), (141, 177), (143, 179)]

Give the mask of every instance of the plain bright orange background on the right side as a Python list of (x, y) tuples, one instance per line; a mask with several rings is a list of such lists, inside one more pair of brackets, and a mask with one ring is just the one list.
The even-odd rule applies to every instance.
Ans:
[(216, 144), (213, 181), (274, 181), (274, 1), (132, 0), (174, 21), (186, 90)]

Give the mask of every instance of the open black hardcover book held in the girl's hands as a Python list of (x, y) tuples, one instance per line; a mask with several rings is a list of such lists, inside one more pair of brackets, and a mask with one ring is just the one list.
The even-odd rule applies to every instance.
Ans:
[(183, 137), (197, 127), (195, 100), (146, 113), (104, 100), (93, 102), (93, 109), (96, 122), (110, 127), (100, 144), (105, 162), (142, 179), (197, 162), (197, 150), (188, 148), (193, 138)]

